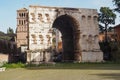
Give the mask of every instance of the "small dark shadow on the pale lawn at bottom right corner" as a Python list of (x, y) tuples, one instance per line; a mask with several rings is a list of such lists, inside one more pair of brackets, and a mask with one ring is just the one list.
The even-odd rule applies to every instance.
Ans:
[(111, 79), (120, 80), (120, 73), (103, 73), (103, 74), (92, 74), (92, 75), (97, 75), (107, 80), (111, 80)]

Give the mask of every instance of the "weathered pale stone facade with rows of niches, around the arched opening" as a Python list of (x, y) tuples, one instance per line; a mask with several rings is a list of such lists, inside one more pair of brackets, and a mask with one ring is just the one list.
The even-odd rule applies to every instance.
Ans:
[[(81, 62), (103, 61), (103, 53), (98, 44), (98, 13), (95, 9), (57, 8), (45, 6), (29, 6), (29, 51), (27, 61), (51, 61), (52, 26), (61, 15), (69, 15), (79, 24)], [(45, 54), (45, 55), (43, 55)]]

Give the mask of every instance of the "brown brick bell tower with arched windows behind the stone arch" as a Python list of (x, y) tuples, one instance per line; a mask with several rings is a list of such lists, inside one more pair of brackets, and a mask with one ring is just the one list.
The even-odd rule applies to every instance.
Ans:
[(22, 8), (17, 10), (17, 29), (16, 29), (16, 41), (17, 47), (28, 47), (28, 10)]

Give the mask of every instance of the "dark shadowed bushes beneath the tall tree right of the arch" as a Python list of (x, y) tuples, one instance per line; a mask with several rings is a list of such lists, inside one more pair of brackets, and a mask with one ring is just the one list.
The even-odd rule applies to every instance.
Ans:
[[(100, 43), (100, 48), (104, 54), (104, 60), (120, 62), (120, 45), (118, 42)], [(107, 59), (106, 59), (107, 55)]]

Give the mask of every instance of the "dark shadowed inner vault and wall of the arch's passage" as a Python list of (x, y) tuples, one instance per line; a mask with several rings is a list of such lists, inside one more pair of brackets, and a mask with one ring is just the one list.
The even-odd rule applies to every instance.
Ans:
[(80, 31), (77, 21), (69, 15), (62, 15), (55, 19), (53, 28), (58, 29), (62, 35), (62, 60), (80, 61)]

